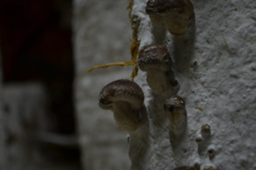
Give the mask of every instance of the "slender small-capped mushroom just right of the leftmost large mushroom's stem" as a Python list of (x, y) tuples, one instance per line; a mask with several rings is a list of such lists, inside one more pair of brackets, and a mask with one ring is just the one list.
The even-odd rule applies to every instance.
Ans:
[(180, 96), (173, 96), (166, 100), (164, 110), (170, 121), (170, 132), (174, 137), (180, 137), (186, 131), (185, 101)]

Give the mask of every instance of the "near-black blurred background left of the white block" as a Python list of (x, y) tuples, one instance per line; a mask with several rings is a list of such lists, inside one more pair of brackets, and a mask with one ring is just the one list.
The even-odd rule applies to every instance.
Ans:
[[(47, 117), (52, 122), (47, 132), (60, 139), (76, 137), (71, 6), (71, 0), (0, 1), (3, 85), (43, 84), (47, 93)], [(5, 111), (8, 110), (5, 106)], [(76, 143), (70, 145), (58, 145), (50, 139), (42, 142), (40, 149), (44, 150), (46, 160), (72, 164), (79, 169), (79, 149)]]

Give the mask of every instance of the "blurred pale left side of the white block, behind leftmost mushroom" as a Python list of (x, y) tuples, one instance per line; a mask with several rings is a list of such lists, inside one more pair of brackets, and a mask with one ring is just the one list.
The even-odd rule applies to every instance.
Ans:
[(102, 111), (98, 95), (108, 82), (131, 76), (131, 68), (87, 70), (129, 61), (131, 25), (127, 1), (74, 1), (75, 100), (84, 169), (129, 169), (127, 133), (118, 131), (113, 113)]

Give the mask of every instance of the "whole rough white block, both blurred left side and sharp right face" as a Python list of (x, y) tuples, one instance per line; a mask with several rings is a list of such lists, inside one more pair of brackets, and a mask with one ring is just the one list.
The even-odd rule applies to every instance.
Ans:
[[(186, 137), (171, 147), (163, 110), (167, 97), (151, 94), (146, 75), (140, 71), (136, 82), (143, 88), (145, 106), (153, 119), (149, 134), (147, 128), (131, 134), (131, 168), (163, 170), (197, 163), (201, 169), (208, 164), (219, 170), (256, 169), (256, 1), (192, 3), (196, 21), (194, 44), (192, 35), (187, 36), (190, 43), (184, 45), (183, 38), (175, 39), (169, 33), (164, 43), (174, 60), (174, 73), (180, 82), (178, 94), (186, 101)], [(129, 73), (123, 72), (123, 68), (85, 73), (95, 64), (130, 59), (126, 5), (125, 1), (74, 2), (76, 111), (86, 157), (82, 161), (90, 170), (129, 168), (125, 133), (115, 130), (111, 112), (97, 106), (101, 88)], [(145, 5), (146, 0), (136, 0), (132, 9), (132, 15), (141, 21), (140, 48), (155, 39)], [(198, 145), (195, 138), (202, 124), (210, 124), (212, 136)], [(145, 135), (149, 145), (135, 140), (140, 134)], [(215, 156), (208, 155), (211, 148), (216, 150)]]

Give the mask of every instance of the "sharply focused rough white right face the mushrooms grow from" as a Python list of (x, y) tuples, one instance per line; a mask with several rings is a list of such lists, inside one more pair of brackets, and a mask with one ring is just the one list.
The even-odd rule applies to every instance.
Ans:
[[(187, 134), (172, 148), (168, 123), (164, 118), (153, 119), (146, 161), (139, 162), (139, 166), (162, 170), (198, 163), (201, 169), (207, 164), (217, 169), (256, 169), (256, 3), (192, 3), (196, 21), (194, 48), (181, 44), (183, 38), (175, 39), (169, 33), (165, 42), (180, 82), (178, 94), (186, 100)], [(141, 47), (154, 42), (149, 17), (143, 12), (145, 4), (135, 1), (132, 12), (141, 19)], [(148, 96), (149, 115), (164, 115), (163, 100), (150, 94), (143, 74), (137, 82)], [(195, 137), (202, 124), (210, 124), (212, 136), (198, 146)], [(210, 148), (216, 150), (214, 158), (207, 154)]]

